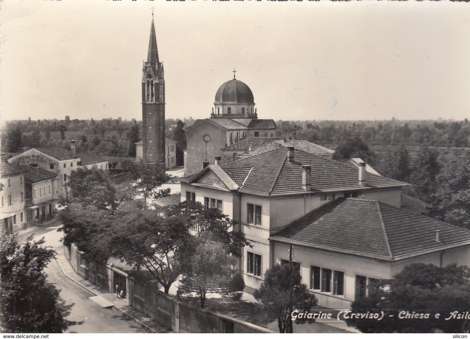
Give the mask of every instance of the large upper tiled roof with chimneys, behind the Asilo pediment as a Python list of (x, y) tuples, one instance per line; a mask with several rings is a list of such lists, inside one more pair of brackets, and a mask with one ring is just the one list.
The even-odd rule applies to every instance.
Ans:
[[(220, 167), (239, 186), (240, 192), (263, 196), (368, 190), (407, 185), (371, 173), (366, 173), (367, 185), (359, 185), (357, 168), (298, 149), (294, 149), (294, 162), (289, 162), (288, 150), (288, 147), (279, 147)], [(302, 188), (303, 165), (311, 166), (310, 191)], [(178, 180), (191, 183), (194, 178), (188, 176)]]

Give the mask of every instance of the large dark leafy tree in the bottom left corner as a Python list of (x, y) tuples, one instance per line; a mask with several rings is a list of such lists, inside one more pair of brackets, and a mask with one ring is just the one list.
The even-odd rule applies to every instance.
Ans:
[(44, 268), (55, 251), (44, 238), (30, 236), (22, 244), (0, 235), (0, 329), (7, 333), (62, 333), (80, 324), (67, 320), (72, 305), (65, 305), (54, 285), (46, 283)]

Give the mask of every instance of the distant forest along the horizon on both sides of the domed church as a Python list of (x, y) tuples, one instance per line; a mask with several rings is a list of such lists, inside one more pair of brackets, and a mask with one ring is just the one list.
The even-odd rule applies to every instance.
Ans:
[[(166, 137), (177, 141), (177, 164), (186, 148), (184, 127), (194, 119), (166, 119)], [(381, 175), (412, 184), (411, 197), (428, 205), (420, 213), (470, 228), (470, 123), (452, 120), (282, 121), (278, 135), (336, 150), (335, 160), (361, 157)], [(295, 129), (295, 126), (297, 128)], [(77, 152), (135, 157), (141, 122), (132, 120), (15, 120), (4, 123), (1, 152), (61, 146)], [(424, 204), (422, 204), (424, 206)], [(415, 208), (416, 210), (419, 208)]]

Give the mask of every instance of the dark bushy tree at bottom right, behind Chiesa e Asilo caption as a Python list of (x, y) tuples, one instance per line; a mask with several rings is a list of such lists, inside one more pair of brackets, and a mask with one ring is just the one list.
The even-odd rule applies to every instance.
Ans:
[[(352, 317), (346, 320), (348, 326), (364, 333), (458, 332), (464, 319), (449, 316), (454, 311), (465, 313), (470, 304), (470, 283), (465, 266), (441, 268), (432, 264), (410, 264), (392, 279), (380, 280), (372, 287), (369, 287), (368, 297), (352, 303), (351, 311), (369, 311), (369, 314), (384, 311), (384, 317), (380, 321)], [(401, 316), (399, 312), (402, 312)], [(404, 317), (407, 312), (423, 316), (410, 319)]]

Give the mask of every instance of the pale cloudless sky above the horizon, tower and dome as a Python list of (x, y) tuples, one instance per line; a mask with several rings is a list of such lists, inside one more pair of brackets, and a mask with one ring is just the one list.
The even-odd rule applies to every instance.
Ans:
[(442, 1), (3, 0), (1, 118), (141, 120), (154, 7), (166, 118), (236, 78), (258, 118), (470, 118), (470, 7)]

